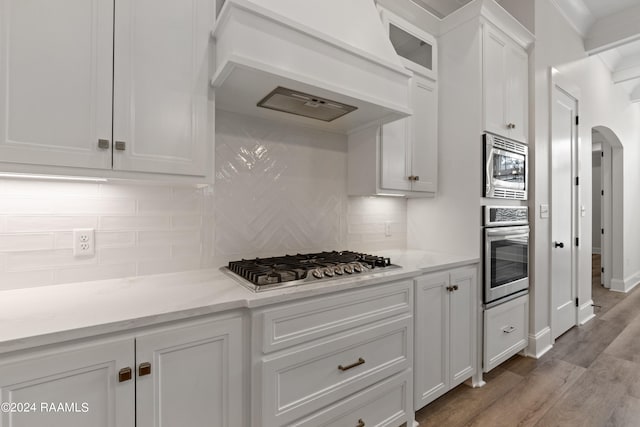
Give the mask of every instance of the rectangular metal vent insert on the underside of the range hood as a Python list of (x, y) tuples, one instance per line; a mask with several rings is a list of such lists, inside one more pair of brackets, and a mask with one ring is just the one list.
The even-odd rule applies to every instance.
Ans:
[(308, 93), (296, 92), (281, 86), (258, 102), (258, 107), (270, 108), (284, 113), (331, 122), (358, 109), (352, 105), (320, 98)]

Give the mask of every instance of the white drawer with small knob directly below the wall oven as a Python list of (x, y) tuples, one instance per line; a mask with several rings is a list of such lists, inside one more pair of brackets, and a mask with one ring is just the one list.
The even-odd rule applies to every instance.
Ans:
[(529, 296), (484, 311), (484, 371), (489, 372), (520, 350), (528, 337)]

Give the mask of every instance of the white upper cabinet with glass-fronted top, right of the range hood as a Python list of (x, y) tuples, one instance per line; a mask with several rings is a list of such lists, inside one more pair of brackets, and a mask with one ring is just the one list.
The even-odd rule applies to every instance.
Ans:
[[(438, 189), (437, 44), (434, 37), (381, 10), (391, 44), (413, 73), (413, 114), (349, 135), (350, 195), (433, 196)], [(375, 144), (374, 144), (375, 143)]]

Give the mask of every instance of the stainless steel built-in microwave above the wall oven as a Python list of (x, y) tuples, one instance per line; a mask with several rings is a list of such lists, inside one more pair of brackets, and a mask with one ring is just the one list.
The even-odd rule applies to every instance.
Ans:
[(527, 200), (528, 147), (502, 136), (485, 133), (484, 197)]

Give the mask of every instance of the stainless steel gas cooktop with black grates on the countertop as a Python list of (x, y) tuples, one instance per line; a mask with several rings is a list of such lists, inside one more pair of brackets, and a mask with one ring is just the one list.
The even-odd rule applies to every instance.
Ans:
[(223, 269), (232, 273), (242, 285), (260, 292), (398, 267), (385, 257), (351, 251), (331, 251), (243, 259), (231, 261)]

